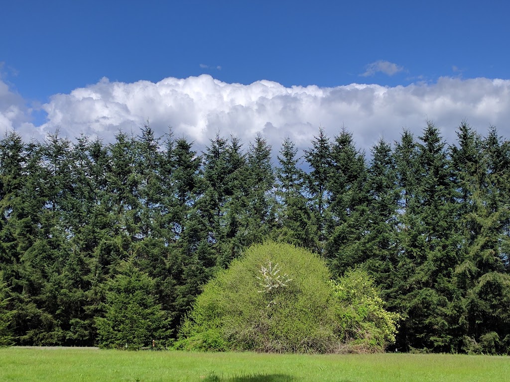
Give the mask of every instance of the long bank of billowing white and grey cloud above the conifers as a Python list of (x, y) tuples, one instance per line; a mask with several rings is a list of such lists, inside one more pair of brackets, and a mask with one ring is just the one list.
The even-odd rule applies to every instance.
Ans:
[(29, 138), (60, 128), (70, 138), (84, 132), (110, 141), (119, 129), (138, 132), (148, 119), (157, 133), (172, 126), (177, 136), (195, 141), (197, 149), (218, 132), (245, 143), (260, 132), (275, 151), (285, 137), (308, 148), (320, 125), (330, 136), (346, 126), (356, 143), (369, 149), (380, 137), (398, 140), (403, 127), (419, 135), (427, 119), (450, 142), (463, 120), (482, 134), (496, 125), (508, 137), (510, 80), (443, 77), (434, 84), (397, 87), (287, 88), (266, 80), (227, 84), (210, 75), (169, 77), (156, 84), (103, 78), (70, 94), (56, 94), (42, 108), (46, 122), (35, 126), (21, 97), (0, 81), (0, 129), (15, 128)]

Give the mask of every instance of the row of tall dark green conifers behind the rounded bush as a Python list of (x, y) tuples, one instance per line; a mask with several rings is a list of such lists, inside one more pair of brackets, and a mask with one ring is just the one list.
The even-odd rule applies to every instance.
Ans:
[(171, 341), (217, 270), (273, 240), (319, 254), (336, 278), (367, 271), (402, 318), (399, 351), (510, 353), (509, 171), (510, 141), (467, 123), (451, 145), (427, 123), (369, 153), (319, 129), (302, 155), (261, 136), (196, 152), (148, 124), (108, 144), (9, 132), (0, 344), (94, 345), (122, 291), (147, 336)]

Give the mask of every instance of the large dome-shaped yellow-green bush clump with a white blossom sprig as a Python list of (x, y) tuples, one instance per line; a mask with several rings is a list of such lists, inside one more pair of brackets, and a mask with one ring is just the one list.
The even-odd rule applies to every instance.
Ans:
[[(343, 296), (342, 283), (350, 281), (344, 279), (331, 283), (326, 264), (307, 250), (273, 242), (254, 245), (204, 287), (176, 347), (331, 352), (344, 351), (340, 345), (346, 342), (361, 341), (356, 344), (381, 350), (393, 340), (396, 316), (382, 309), (380, 298), (371, 298), (378, 297), (374, 288), (373, 296), (362, 291), (350, 300)], [(368, 283), (368, 276), (364, 280)], [(365, 287), (355, 281), (348, 285)], [(349, 310), (344, 304), (365, 308)], [(370, 333), (356, 332), (356, 319)]]

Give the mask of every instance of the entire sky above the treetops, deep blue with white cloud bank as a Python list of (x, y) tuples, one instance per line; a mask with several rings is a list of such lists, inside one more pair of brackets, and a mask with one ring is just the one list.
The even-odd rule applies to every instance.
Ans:
[(503, 1), (5, 2), (0, 130), (108, 139), (149, 119), (198, 143), (262, 130), (304, 145), (319, 124), (331, 135), (346, 124), (370, 146), (426, 119), (450, 139), (468, 119), (507, 135), (509, 11)]

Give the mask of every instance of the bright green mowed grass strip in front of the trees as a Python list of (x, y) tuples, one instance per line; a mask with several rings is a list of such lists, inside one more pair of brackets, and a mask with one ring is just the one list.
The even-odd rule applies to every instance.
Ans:
[(0, 381), (502, 382), (510, 358), (0, 348)]

